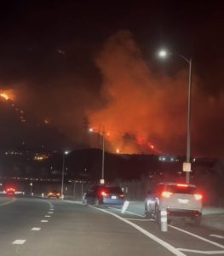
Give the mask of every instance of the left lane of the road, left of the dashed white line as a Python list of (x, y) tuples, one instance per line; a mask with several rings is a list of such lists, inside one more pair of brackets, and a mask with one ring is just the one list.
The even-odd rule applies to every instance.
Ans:
[(15, 240), (26, 240), (32, 224), (39, 221), (49, 202), (29, 198), (0, 197), (0, 255), (14, 255)]

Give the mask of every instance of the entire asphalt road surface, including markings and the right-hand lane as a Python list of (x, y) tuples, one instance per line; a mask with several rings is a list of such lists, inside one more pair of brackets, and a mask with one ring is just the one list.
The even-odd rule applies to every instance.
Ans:
[[(211, 236), (213, 235), (213, 236)], [(224, 255), (224, 232), (78, 202), (0, 197), (1, 256)]]

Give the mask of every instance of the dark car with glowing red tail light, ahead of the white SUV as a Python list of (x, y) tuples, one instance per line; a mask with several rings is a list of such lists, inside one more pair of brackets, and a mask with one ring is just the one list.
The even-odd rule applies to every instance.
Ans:
[(123, 206), (123, 191), (118, 186), (95, 185), (83, 195), (84, 205)]

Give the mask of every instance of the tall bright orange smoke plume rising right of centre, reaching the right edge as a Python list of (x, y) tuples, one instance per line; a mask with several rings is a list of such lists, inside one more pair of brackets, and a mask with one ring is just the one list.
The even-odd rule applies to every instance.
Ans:
[[(159, 61), (159, 60), (158, 60)], [(187, 137), (187, 70), (168, 77), (152, 73), (130, 32), (118, 32), (95, 60), (101, 70), (104, 108), (90, 113), (93, 125), (111, 131), (113, 150), (124, 153), (185, 154)], [(192, 83), (192, 154), (218, 154), (223, 99), (210, 99)], [(211, 122), (210, 122), (211, 121)], [(125, 135), (131, 135), (130, 143)], [(148, 146), (139, 148), (136, 144)], [(126, 143), (123, 138), (126, 138)], [(219, 138), (220, 139), (220, 138)], [(222, 139), (223, 141), (223, 139)], [(126, 145), (126, 146), (125, 146)], [(213, 148), (211, 148), (213, 147)], [(150, 149), (150, 150), (149, 150)], [(220, 148), (219, 148), (220, 149)]]

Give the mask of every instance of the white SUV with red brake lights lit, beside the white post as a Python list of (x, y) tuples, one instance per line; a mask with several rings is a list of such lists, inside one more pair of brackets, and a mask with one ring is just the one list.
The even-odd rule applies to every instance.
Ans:
[(202, 195), (195, 185), (186, 183), (158, 183), (153, 192), (148, 192), (145, 201), (146, 218), (160, 221), (160, 211), (166, 209), (168, 221), (175, 217), (192, 218), (200, 223)]

